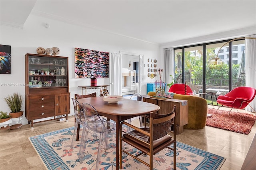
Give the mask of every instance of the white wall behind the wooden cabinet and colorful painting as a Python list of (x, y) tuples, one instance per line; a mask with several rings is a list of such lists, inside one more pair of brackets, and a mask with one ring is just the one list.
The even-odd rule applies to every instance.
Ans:
[[(48, 23), (50, 28), (45, 28)], [(4, 86), (6, 83), (25, 83), (25, 54), (36, 53), (37, 47), (60, 48), (60, 56), (69, 57), (69, 91), (73, 97), (75, 93), (81, 94), (79, 85), (90, 85), (90, 79), (74, 78), (74, 48), (94, 49), (99, 51), (127, 51), (144, 55), (144, 63), (148, 58), (159, 56), (159, 45), (138, 41), (135, 39), (84, 28), (81, 26), (65, 24), (42, 16), (30, 15), (24, 24), (24, 29), (1, 25), (0, 44), (11, 45), (11, 74), (0, 75), (0, 111), (10, 112), (4, 97), (14, 92), (23, 95), (25, 87)], [(160, 59), (158, 59), (160, 61)], [(158, 62), (161, 66), (160, 62)], [(162, 63), (163, 65), (163, 63)], [(144, 82), (150, 81), (147, 76), (147, 67), (144, 67)], [(109, 84), (109, 79), (99, 79), (98, 84)], [(146, 85), (144, 85), (146, 94)], [(71, 102), (70, 102), (71, 103)], [(73, 105), (70, 107), (71, 115), (74, 113)], [(25, 103), (23, 104), (25, 111)], [(25, 115), (25, 113), (24, 113)], [(27, 124), (25, 117), (22, 124)]]

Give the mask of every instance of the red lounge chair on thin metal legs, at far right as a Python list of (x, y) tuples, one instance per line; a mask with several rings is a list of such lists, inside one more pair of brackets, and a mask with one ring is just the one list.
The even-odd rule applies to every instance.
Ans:
[[(255, 95), (256, 90), (252, 87), (236, 87), (226, 95), (220, 95), (217, 99), (217, 103), (222, 106), (232, 107), (232, 109), (244, 109), (254, 99)], [(252, 110), (255, 113), (253, 108)]]

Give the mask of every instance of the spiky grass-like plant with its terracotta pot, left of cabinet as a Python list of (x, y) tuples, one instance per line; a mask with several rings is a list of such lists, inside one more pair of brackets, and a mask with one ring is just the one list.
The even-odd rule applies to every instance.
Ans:
[(4, 100), (11, 110), (11, 113), (9, 113), (11, 118), (17, 118), (23, 115), (23, 111), (21, 111), (23, 103), (22, 95), (13, 93), (12, 95), (5, 97)]

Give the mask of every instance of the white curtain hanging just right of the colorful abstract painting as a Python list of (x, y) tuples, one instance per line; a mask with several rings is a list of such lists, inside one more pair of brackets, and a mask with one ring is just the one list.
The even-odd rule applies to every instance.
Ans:
[(122, 95), (122, 54), (110, 52), (110, 95)]

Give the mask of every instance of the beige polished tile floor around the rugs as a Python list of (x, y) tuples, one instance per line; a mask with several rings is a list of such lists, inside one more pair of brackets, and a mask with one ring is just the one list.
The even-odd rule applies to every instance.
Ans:
[[(0, 170), (45, 170), (28, 137), (71, 126), (74, 126), (74, 117), (69, 117), (68, 122), (34, 124), (34, 129), (23, 125), (10, 132), (0, 130)], [(177, 135), (177, 140), (225, 157), (221, 170), (240, 170), (255, 133), (256, 124), (248, 135), (206, 126), (200, 130), (185, 129)]]

